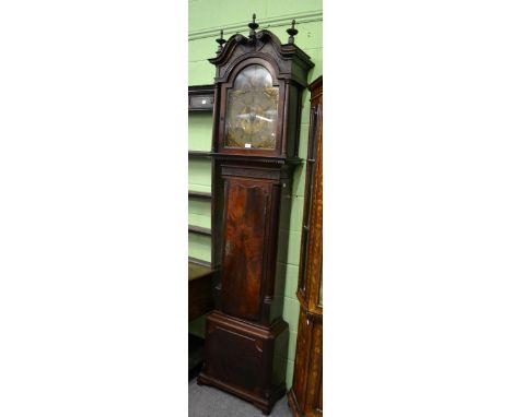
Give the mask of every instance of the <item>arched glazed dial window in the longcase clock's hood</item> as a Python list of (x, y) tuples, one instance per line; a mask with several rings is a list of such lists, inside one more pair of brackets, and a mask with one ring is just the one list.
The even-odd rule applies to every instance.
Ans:
[(261, 65), (248, 65), (228, 92), (226, 147), (276, 148), (279, 87)]

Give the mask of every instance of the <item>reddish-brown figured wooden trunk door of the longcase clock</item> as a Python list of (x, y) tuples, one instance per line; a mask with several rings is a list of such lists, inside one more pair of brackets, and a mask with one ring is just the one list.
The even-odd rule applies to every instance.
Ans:
[(222, 309), (247, 320), (260, 315), (271, 187), (265, 180), (225, 179)]

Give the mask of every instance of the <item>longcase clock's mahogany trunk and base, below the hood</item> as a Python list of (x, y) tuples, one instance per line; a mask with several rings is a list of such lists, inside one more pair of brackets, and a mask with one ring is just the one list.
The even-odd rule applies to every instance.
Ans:
[[(290, 166), (216, 158), (214, 239), (220, 279), (216, 311), (207, 317), (205, 366), (199, 383), (247, 400), (264, 413), (286, 393), (289, 329), (282, 320)], [(284, 187), (283, 187), (284, 186)], [(275, 296), (279, 294), (281, 296)]]

